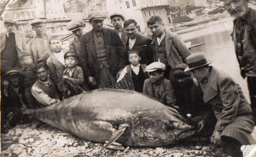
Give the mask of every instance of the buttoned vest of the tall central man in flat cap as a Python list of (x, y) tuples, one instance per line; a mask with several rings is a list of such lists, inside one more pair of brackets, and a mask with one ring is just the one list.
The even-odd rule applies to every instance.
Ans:
[(96, 48), (96, 56), (97, 56), (97, 64), (99, 69), (103, 68), (103, 65), (105, 65), (107, 68), (109, 68), (108, 64), (108, 57), (106, 53), (105, 43), (103, 39), (103, 33), (100, 32), (100, 37), (97, 37), (96, 32), (94, 32), (94, 40), (95, 40), (95, 48)]

